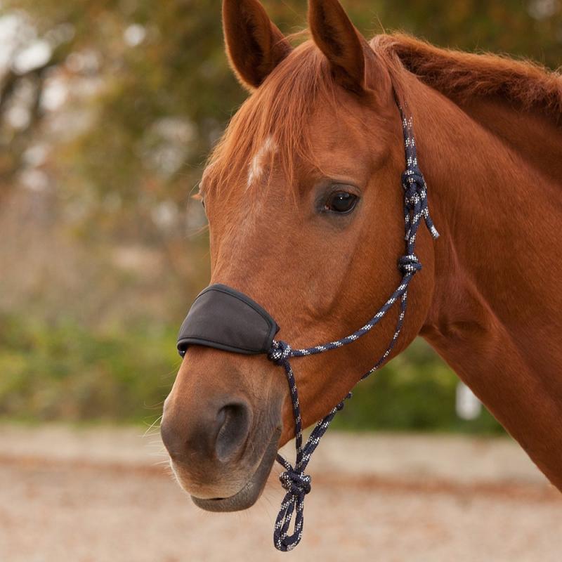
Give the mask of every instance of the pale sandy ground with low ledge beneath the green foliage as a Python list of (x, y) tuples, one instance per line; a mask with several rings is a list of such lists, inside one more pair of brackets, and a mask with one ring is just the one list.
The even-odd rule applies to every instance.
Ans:
[(509, 440), (332, 433), (317, 453), (282, 554), (273, 478), (254, 508), (209, 514), (142, 429), (0, 426), (0, 561), (562, 559), (562, 496)]

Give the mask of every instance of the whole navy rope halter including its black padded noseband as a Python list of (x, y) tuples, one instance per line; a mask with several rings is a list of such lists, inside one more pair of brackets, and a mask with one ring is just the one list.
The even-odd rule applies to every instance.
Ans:
[[(402, 174), (406, 252), (398, 259), (398, 269), (402, 273), (402, 280), (396, 291), (391, 294), (367, 324), (353, 334), (330, 341), (328, 344), (292, 349), (285, 341), (274, 339), (279, 327), (258, 303), (225, 285), (211, 285), (197, 296), (180, 330), (178, 351), (182, 357), (190, 344), (199, 344), (235, 353), (267, 353), (268, 359), (285, 369), (293, 405), (296, 459), (294, 466), (292, 466), (287, 459), (277, 454), (277, 462), (285, 468), (279, 479), (282, 487), (287, 491), (273, 530), (273, 543), (275, 548), (280, 551), (294, 549), (301, 540), (304, 497), (311, 491), (311, 477), (305, 473), (306, 466), (332, 419), (344, 407), (344, 400), (351, 398), (351, 393), (348, 393), (344, 400), (341, 400), (326, 417), (321, 419), (303, 445), (299, 393), (296, 389), (290, 359), (317, 355), (330, 349), (351, 344), (370, 332), (392, 308), (393, 304), (400, 300), (400, 313), (394, 335), (381, 358), (361, 378), (365, 379), (376, 371), (388, 358), (398, 340), (406, 313), (407, 289), (414, 275), (421, 269), (421, 263), (419, 263), (414, 251), (421, 219), (424, 219), (433, 238), (439, 236), (435, 226), (433, 226), (431, 216), (429, 216), (427, 185), (417, 164), (412, 118), (406, 119), (401, 107), (400, 117), (402, 118), (406, 157), (406, 169)], [(295, 518), (291, 533), (290, 527), (293, 515)]]

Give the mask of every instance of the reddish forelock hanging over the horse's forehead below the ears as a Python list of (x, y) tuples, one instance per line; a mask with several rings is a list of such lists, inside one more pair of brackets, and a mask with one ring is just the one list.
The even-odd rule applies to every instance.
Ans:
[(318, 167), (310, 126), (313, 111), (324, 108), (334, 119), (345, 111), (336, 101), (337, 87), (311, 41), (294, 49), (231, 119), (209, 157), (207, 185), (217, 192), (260, 192), (275, 166), (287, 188), (296, 190), (296, 166), (306, 162)]

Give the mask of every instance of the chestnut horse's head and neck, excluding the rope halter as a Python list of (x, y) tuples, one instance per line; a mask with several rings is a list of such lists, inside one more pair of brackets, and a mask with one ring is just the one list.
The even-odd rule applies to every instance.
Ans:
[[(561, 77), (403, 35), (367, 43), (337, 0), (309, 0), (308, 21), (311, 39), (292, 48), (257, 0), (224, 0), (228, 58), (251, 96), (202, 178), (211, 281), (260, 303), (293, 347), (370, 318), (400, 280), (396, 96), (413, 117), (441, 236), (419, 230), (424, 268), (392, 356), (423, 336), (562, 490)], [(303, 426), (372, 367), (397, 314), (294, 361)], [(190, 347), (162, 438), (197, 504), (249, 507), (293, 432), (279, 367)]]

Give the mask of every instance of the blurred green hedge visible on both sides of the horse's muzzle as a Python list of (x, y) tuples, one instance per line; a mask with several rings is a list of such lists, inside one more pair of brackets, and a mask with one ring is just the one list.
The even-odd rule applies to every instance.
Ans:
[[(179, 359), (174, 326), (86, 328), (69, 319), (0, 317), (0, 417), (148, 421), (158, 417)], [(455, 415), (457, 377), (421, 341), (354, 391), (339, 429), (502, 431), (488, 412)]]

